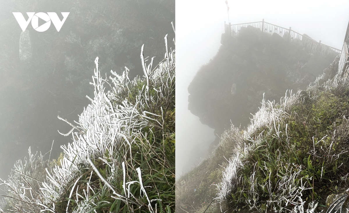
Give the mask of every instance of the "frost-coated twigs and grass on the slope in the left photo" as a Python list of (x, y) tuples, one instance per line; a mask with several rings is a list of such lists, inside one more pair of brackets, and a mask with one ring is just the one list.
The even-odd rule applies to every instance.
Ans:
[(103, 78), (96, 58), (94, 98), (76, 126), (66, 121), (73, 141), (58, 160), (29, 150), (1, 181), (0, 212), (174, 212), (175, 57), (165, 43), (156, 66), (142, 46), (144, 78), (126, 67)]

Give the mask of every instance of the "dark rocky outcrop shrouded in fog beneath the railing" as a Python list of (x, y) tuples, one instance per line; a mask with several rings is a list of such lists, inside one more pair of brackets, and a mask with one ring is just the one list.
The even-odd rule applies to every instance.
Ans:
[(306, 89), (337, 55), (310, 55), (296, 40), (289, 43), (251, 26), (241, 28), (236, 38), (222, 34), (216, 56), (188, 87), (188, 109), (220, 135), (231, 122), (246, 127), (263, 94), (278, 101), (287, 89)]

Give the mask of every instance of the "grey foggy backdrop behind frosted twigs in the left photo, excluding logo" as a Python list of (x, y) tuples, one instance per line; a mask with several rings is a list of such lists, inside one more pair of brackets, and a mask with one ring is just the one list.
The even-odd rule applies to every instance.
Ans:
[[(94, 60), (103, 75), (143, 75), (140, 53), (163, 59), (164, 37), (172, 48), (174, 0), (43, 1), (1, 0), (0, 7), (0, 178), (6, 180), (14, 163), (31, 152), (58, 159), (60, 146), (93, 98)], [(70, 12), (58, 32), (44, 32), (29, 23), (22, 32), (12, 12)], [(39, 19), (39, 26), (45, 21)], [(54, 142), (53, 142), (54, 141)]]

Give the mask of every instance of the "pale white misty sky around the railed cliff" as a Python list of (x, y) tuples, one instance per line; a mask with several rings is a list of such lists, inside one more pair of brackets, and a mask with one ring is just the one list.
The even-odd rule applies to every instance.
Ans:
[[(231, 24), (266, 22), (291, 27), (316, 41), (342, 49), (349, 21), (349, 1), (228, 0)], [(202, 125), (188, 108), (187, 87), (200, 66), (220, 47), (225, 0), (176, 0), (176, 175), (207, 156), (213, 129)]]

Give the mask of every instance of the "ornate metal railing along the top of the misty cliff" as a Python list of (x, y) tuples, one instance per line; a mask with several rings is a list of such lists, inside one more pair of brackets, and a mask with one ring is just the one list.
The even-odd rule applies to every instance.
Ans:
[(314, 39), (310, 38), (306, 34), (299, 34), (298, 32), (291, 30), (291, 28), (283, 28), (275, 24), (271, 24), (263, 21), (260, 22), (249, 22), (242, 24), (227, 24), (225, 23), (225, 33), (231, 37), (238, 36), (242, 27), (252, 26), (258, 28), (262, 32), (268, 34), (278, 34), (290, 43), (294, 43), (302, 47), (306, 52), (310, 54), (321, 54), (321, 55), (331, 55), (331, 54), (340, 54), (342, 51), (334, 47), (321, 44), (321, 41), (317, 42)]

